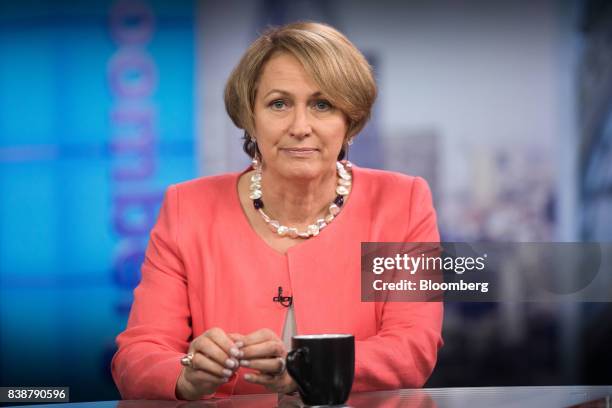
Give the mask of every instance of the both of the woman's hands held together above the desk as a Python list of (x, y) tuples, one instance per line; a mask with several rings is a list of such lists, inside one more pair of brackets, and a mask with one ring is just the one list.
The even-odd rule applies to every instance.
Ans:
[(285, 370), (285, 346), (270, 329), (242, 335), (213, 328), (196, 337), (188, 352), (193, 353), (193, 359), (191, 367), (183, 368), (176, 384), (179, 399), (195, 400), (214, 393), (240, 367), (254, 370), (244, 374), (246, 381), (261, 384), (272, 392), (296, 390), (295, 382)]

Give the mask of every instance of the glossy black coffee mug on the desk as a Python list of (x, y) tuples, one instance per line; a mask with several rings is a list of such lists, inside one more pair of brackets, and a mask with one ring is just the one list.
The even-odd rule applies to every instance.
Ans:
[(355, 337), (351, 334), (293, 336), (287, 371), (306, 405), (344, 404), (355, 377)]

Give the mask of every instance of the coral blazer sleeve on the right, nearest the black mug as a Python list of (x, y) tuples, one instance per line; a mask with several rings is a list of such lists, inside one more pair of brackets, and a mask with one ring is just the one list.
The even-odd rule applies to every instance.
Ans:
[[(405, 242), (439, 242), (425, 180), (414, 179)], [(379, 313), (378, 313), (379, 312)], [(353, 391), (422, 387), (442, 347), (442, 302), (377, 304), (377, 334), (355, 344)]]

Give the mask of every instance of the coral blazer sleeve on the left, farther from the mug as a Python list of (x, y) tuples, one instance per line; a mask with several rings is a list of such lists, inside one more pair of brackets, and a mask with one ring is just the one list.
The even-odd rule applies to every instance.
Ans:
[(112, 375), (124, 399), (175, 400), (180, 357), (192, 335), (187, 278), (177, 245), (178, 190), (166, 191)]

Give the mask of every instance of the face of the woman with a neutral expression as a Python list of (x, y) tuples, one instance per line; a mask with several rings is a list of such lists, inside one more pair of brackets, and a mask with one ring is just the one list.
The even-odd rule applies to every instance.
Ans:
[(295, 57), (281, 53), (266, 63), (254, 112), (266, 171), (301, 179), (335, 171), (347, 131), (345, 115), (331, 105)]

